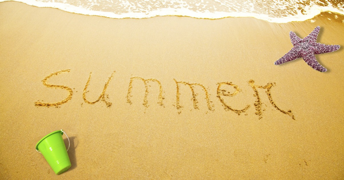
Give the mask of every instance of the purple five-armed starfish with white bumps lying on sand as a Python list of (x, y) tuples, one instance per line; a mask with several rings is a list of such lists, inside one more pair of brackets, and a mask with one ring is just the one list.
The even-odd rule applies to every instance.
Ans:
[(316, 42), (320, 27), (317, 26), (307, 37), (301, 39), (294, 32), (290, 31), (289, 36), (293, 48), (275, 62), (275, 65), (283, 64), (302, 57), (302, 59), (313, 69), (326, 72), (327, 69), (315, 59), (315, 54), (330, 53), (338, 50), (340, 45), (326, 45)]

